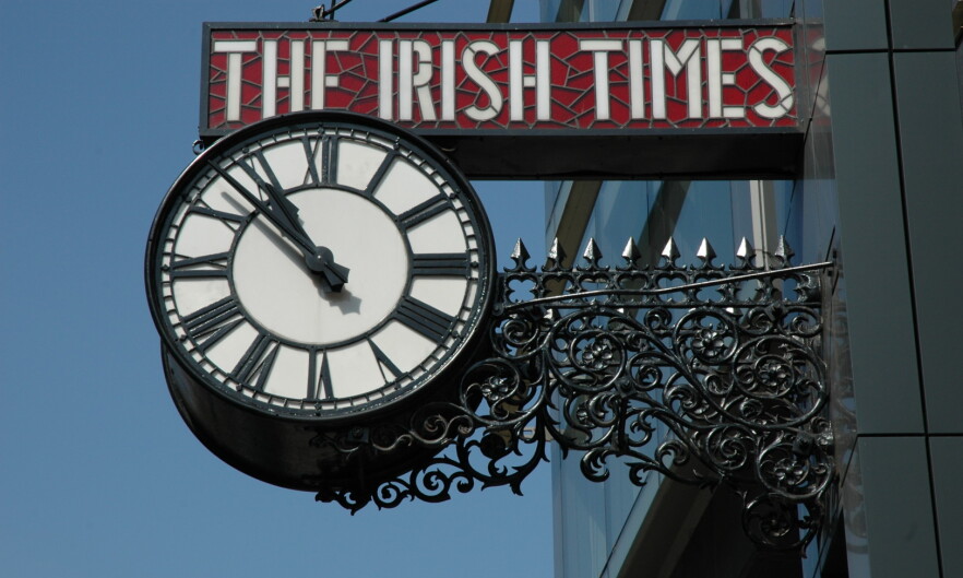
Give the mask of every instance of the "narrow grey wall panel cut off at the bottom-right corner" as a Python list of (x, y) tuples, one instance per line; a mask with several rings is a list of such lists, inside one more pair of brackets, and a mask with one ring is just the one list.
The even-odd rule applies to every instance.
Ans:
[(963, 576), (963, 437), (929, 439), (943, 576)]

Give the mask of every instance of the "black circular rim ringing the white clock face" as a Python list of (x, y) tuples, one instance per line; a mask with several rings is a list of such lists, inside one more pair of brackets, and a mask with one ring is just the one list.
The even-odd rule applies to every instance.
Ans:
[[(382, 396), (377, 400), (372, 400), (361, 405), (352, 405), (338, 409), (295, 409), (283, 405), (272, 404), (265, 401), (257, 400), (238, 393), (233, 388), (228, 388), (210, 373), (204, 371), (198, 363), (182, 351), (178, 345), (178, 340), (174, 334), (173, 327), (166, 319), (165, 311), (160, 310), (162, 296), (160, 292), (160, 266), (159, 259), (163, 255), (162, 246), (164, 244), (165, 234), (167, 232), (167, 221), (171, 211), (183, 202), (182, 191), (186, 187), (206, 170), (206, 162), (211, 157), (217, 157), (224, 151), (237, 148), (238, 144), (264, 138), (272, 131), (284, 129), (285, 127), (294, 128), (304, 125), (323, 125), (332, 123), (340, 126), (355, 126), (358, 129), (381, 132), (389, 134), (395, 139), (401, 139), (405, 146), (409, 148), (414, 153), (425, 160), (433, 162), (433, 168), (441, 172), (448, 182), (451, 182), (461, 190), (462, 196), (467, 201), (469, 214), (473, 217), (478, 238), (478, 298), (477, 307), (473, 308), (471, 317), (465, 322), (464, 328), (460, 331), (460, 337), (455, 338), (455, 343), (447, 351), (452, 352), (444, 359), (431, 366), (426, 374), (427, 379), (414, 385), (408, 384), (405, 387), (396, 389), (390, 393)], [(151, 224), (147, 236), (147, 245), (144, 259), (144, 280), (147, 293), (147, 303), (151, 310), (151, 317), (162, 339), (162, 344), (171, 352), (181, 366), (189, 368), (189, 374), (194, 380), (207, 390), (213, 391), (219, 398), (239, 408), (253, 411), (259, 415), (271, 415), (280, 418), (286, 418), (297, 422), (306, 422), (311, 424), (330, 423), (338, 424), (349, 422), (360, 416), (376, 416), (397, 411), (408, 405), (413, 399), (426, 396), (427, 391), (437, 390), (444, 387), (444, 382), (451, 380), (452, 374), (459, 367), (467, 366), (477, 355), (473, 352), (478, 350), (479, 342), (486, 334), (485, 328), (487, 320), (490, 318), (494, 306), (495, 282), (497, 278), (496, 258), (495, 258), (495, 239), (488, 215), (482, 204), (478, 193), (472, 187), (464, 173), (454, 164), (454, 162), (442, 153), (437, 146), (426, 141), (424, 138), (405, 130), (394, 123), (380, 118), (360, 115), (347, 111), (334, 110), (306, 110), (298, 113), (289, 113), (271, 117), (240, 129), (221, 138), (211, 146), (199, 154), (181, 174), (175, 179), (174, 184), (168, 188), (157, 212)], [(482, 350), (485, 347), (483, 346)], [(379, 391), (379, 390), (376, 390)], [(445, 396), (439, 396), (440, 401), (451, 401), (452, 396), (449, 392)]]

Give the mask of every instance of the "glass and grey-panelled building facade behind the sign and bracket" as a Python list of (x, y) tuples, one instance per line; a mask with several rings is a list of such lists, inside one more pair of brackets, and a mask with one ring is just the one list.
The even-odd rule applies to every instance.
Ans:
[(960, 2), (540, 5), (545, 22), (794, 19), (805, 127), (792, 180), (547, 182), (549, 241), (575, 252), (592, 237), (617, 256), (632, 237), (655, 263), (669, 238), (692, 262), (705, 237), (732, 262), (742, 237), (765, 259), (784, 236), (796, 262), (836, 263), (822, 345), (839, 473), (805, 555), (749, 542), (730, 491), (656, 474), (638, 487), (617, 462), (593, 483), (557, 453), (556, 577), (963, 577), (963, 388), (951, 354), (963, 247)]

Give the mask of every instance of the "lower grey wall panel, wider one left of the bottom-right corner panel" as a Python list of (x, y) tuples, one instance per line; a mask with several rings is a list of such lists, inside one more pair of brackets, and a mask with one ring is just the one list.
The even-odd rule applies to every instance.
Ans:
[(859, 475), (872, 578), (938, 578), (926, 441), (860, 437)]

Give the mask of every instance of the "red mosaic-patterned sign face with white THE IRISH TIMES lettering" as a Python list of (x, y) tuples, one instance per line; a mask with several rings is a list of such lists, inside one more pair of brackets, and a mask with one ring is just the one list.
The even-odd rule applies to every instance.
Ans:
[(789, 26), (206, 27), (203, 130), (305, 109), (407, 128), (793, 127)]

